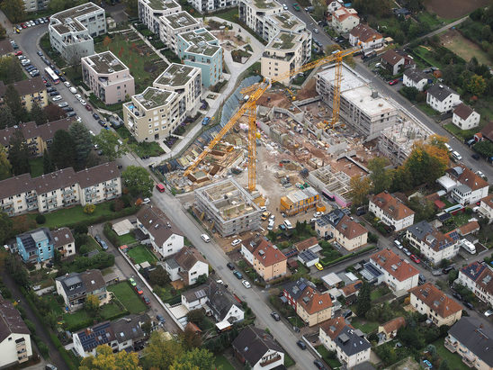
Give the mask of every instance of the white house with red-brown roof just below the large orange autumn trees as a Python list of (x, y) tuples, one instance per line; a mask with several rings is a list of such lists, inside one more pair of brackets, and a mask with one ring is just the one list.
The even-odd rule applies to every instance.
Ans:
[(368, 209), (396, 231), (406, 229), (414, 223), (414, 211), (387, 191), (373, 195)]

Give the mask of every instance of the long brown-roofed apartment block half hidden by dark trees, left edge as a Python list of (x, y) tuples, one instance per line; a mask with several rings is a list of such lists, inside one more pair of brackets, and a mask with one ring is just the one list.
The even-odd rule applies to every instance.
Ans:
[(40, 157), (45, 150), (49, 150), (55, 132), (58, 130), (67, 131), (73, 118), (62, 118), (58, 121), (48, 122), (38, 126), (36, 122), (20, 123), (14, 127), (6, 127), (0, 130), (0, 145), (4, 147), (5, 153), (8, 156), (10, 149), (10, 140), (15, 131), (22, 131), (25, 143), (29, 149), (29, 154), (32, 157)]

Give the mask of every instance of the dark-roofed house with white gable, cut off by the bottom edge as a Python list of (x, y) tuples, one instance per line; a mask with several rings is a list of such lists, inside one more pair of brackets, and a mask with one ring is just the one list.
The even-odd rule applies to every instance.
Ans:
[(284, 365), (284, 351), (263, 329), (248, 326), (231, 343), (238, 361), (252, 370), (268, 370)]

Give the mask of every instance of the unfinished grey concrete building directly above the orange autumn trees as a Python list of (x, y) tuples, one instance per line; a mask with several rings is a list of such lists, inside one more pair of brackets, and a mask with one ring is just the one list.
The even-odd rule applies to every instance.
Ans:
[(401, 120), (399, 123), (381, 131), (378, 148), (392, 163), (400, 166), (408, 158), (413, 145), (418, 141), (426, 141), (435, 134), (423, 123)]

